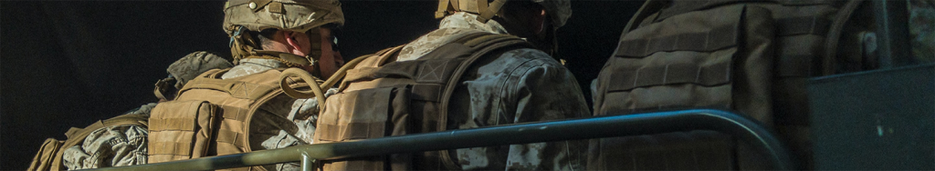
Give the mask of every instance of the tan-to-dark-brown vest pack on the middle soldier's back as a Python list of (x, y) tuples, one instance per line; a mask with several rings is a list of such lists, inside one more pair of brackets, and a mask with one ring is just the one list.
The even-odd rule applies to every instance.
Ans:
[[(351, 66), (353, 69), (347, 71), (338, 86), (339, 92), (325, 100), (315, 143), (446, 130), (449, 99), (469, 66), (504, 49), (531, 45), (506, 34), (470, 33), (420, 59), (396, 61), (402, 47), (361, 57), (366, 59)], [(326, 171), (460, 168), (448, 151), (359, 157), (320, 164)]]

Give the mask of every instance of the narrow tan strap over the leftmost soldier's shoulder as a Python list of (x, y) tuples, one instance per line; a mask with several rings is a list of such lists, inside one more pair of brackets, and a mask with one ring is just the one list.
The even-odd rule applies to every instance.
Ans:
[(94, 124), (88, 125), (84, 128), (72, 127), (71, 129), (68, 129), (68, 132), (65, 133), (65, 136), (68, 137), (68, 139), (65, 140), (65, 143), (62, 144), (58, 152), (55, 152), (55, 159), (52, 160), (50, 170), (65, 170), (65, 165), (62, 164), (62, 155), (64, 155), (65, 149), (71, 148), (72, 146), (83, 142), (84, 138), (87, 138), (89, 135), (91, 135), (94, 130), (113, 125), (139, 125), (148, 127), (149, 118), (149, 116), (142, 114), (123, 114), (108, 120), (97, 121)]

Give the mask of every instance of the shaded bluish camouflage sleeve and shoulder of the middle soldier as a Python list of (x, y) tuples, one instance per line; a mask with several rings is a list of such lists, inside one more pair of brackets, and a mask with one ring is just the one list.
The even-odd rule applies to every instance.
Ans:
[[(589, 112), (574, 76), (534, 49), (517, 49), (479, 63), (467, 78), (471, 118), (459, 128), (575, 118)], [(463, 99), (468, 100), (468, 99)], [(584, 141), (456, 150), (464, 170), (582, 170)]]

